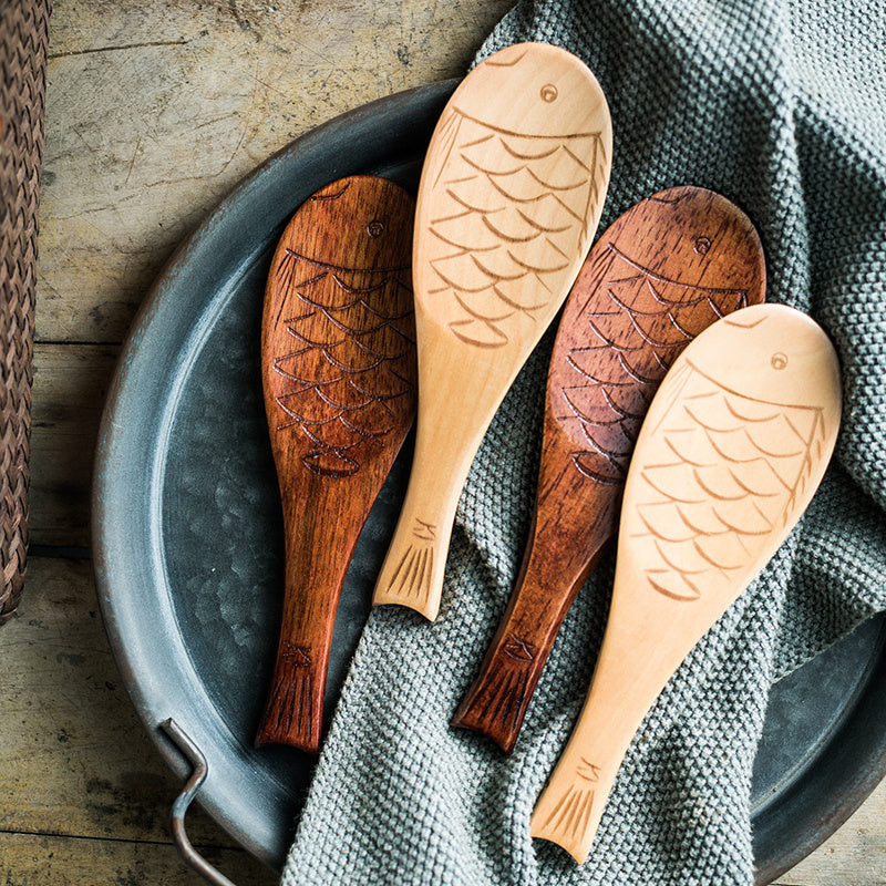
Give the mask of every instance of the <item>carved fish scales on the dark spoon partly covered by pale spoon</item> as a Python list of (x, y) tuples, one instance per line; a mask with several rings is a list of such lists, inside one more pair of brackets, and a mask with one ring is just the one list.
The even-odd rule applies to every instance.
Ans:
[[(668, 279), (612, 244), (605, 279), (583, 311), (588, 344), (568, 364), (557, 420), (584, 447), (575, 467), (604, 484), (621, 484), (649, 403), (668, 369), (703, 329), (746, 307), (745, 289), (717, 289)], [(651, 359), (650, 359), (651, 358)]]

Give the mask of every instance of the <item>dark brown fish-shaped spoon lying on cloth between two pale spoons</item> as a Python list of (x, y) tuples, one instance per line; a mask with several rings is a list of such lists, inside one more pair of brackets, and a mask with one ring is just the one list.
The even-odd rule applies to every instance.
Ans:
[(554, 344), (523, 568), (453, 725), (513, 750), (560, 622), (615, 534), (633, 441), (659, 382), (694, 336), (759, 303), (764, 289), (750, 219), (703, 188), (642, 200), (594, 245)]

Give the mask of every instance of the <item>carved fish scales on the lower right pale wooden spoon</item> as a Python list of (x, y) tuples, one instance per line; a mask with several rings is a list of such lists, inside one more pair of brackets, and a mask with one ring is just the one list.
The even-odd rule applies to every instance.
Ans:
[(672, 457), (638, 465), (631, 536), (655, 539), (649, 587), (691, 601), (728, 593), (784, 529), (823, 457), (825, 427), (821, 409), (745, 396), (690, 361), (671, 390), (655, 432)]

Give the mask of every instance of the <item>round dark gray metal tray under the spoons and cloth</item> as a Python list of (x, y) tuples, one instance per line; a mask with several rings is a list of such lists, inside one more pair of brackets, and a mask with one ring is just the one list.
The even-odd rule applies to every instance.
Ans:
[[(282, 539), (258, 365), (265, 278), (296, 207), (370, 173), (414, 192), (455, 86), (365, 105), (293, 142), (189, 237), (148, 293), (102, 420), (93, 545), (105, 627), (124, 682), (169, 766), (161, 724), (200, 749), (198, 800), (280, 867), (312, 771), (291, 749), (253, 746), (272, 666)], [(401, 457), (370, 515), (336, 621), (334, 703), (404, 491)], [(886, 772), (886, 629), (863, 626), (773, 691), (754, 774), (758, 882), (827, 837)]]

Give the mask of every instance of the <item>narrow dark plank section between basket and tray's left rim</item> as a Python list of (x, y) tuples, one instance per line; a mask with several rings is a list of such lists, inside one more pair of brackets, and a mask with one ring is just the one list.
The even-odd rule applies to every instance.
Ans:
[(31, 545), (89, 544), (95, 437), (117, 349), (37, 344), (31, 410)]

